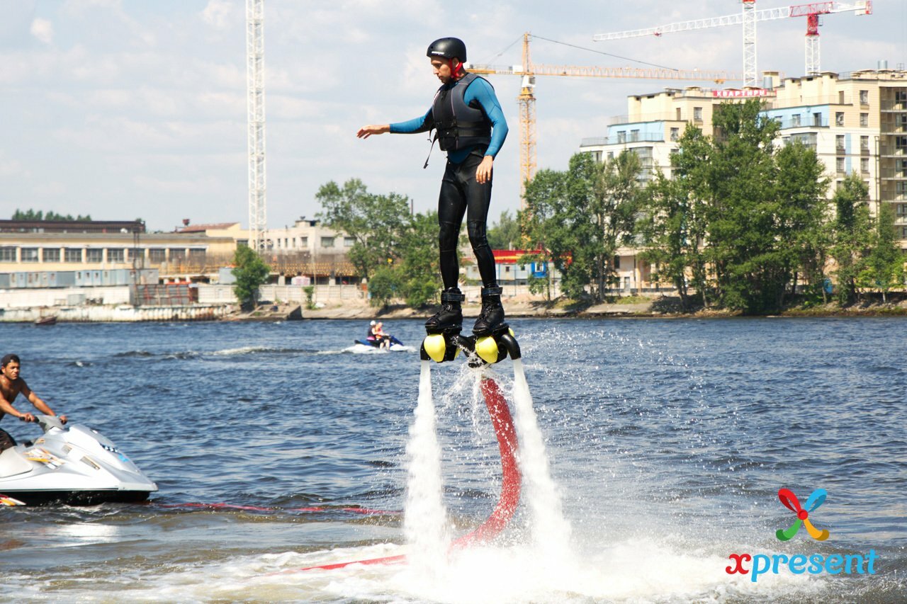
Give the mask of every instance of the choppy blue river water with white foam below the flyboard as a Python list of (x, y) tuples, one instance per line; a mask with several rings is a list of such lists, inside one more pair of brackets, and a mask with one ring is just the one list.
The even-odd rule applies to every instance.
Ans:
[[(567, 551), (521, 501), (497, 541), (414, 573), (297, 569), (405, 553), (417, 353), (346, 350), (361, 321), (0, 325), (34, 391), (160, 487), (141, 505), (0, 508), (0, 600), (907, 601), (902, 318), (512, 326)], [(512, 392), (512, 363), (491, 371)], [(456, 537), (492, 511), (501, 462), (474, 372), (431, 376)], [(810, 515), (827, 541), (775, 538), (795, 520), (781, 488), (827, 492)], [(727, 572), (730, 554), (870, 551), (873, 573)]]

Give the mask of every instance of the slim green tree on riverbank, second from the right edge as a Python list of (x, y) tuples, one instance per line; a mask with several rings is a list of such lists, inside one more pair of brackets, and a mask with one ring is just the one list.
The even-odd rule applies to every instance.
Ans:
[(835, 209), (832, 257), (837, 267), (838, 302), (852, 304), (857, 297), (857, 278), (865, 268), (872, 245), (872, 217), (866, 198), (869, 189), (856, 174), (849, 174), (834, 191)]

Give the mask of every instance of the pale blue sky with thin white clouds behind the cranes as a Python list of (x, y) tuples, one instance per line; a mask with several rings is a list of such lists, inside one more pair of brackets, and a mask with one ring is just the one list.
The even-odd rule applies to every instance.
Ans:
[[(853, 0), (847, 3), (853, 4)], [(758, 0), (757, 9), (784, 6)], [(739, 0), (265, 0), (268, 227), (319, 211), (330, 180), (434, 209), (444, 172), (425, 134), (356, 138), (424, 114), (425, 49), (462, 38), (473, 63), (743, 71), (737, 26), (593, 42), (594, 34), (740, 12)], [(757, 24), (758, 70), (804, 72), (805, 18)], [(823, 71), (907, 63), (907, 0), (823, 17)], [(244, 0), (0, 0), (0, 219), (15, 209), (144, 219), (151, 230), (249, 223)], [(510, 125), (491, 221), (520, 204), (520, 78), (488, 76)], [(540, 169), (564, 170), (627, 97), (713, 83), (539, 77)], [(727, 83), (727, 87), (731, 87)]]

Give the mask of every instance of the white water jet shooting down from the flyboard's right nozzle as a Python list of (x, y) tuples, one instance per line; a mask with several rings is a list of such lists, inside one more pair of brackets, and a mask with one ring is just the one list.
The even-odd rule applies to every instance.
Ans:
[(522, 360), (513, 361), (514, 425), (518, 437), (517, 459), (522, 472), (524, 502), (532, 518), (532, 540), (553, 560), (567, 560), (570, 553), (571, 525), (564, 518), (561, 494), (551, 479), (548, 455), (541, 437), (532, 395), (526, 383)]

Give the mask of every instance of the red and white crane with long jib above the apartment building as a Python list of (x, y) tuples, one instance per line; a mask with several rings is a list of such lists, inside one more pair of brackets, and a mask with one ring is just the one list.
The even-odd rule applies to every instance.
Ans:
[(756, 10), (756, 0), (742, 0), (743, 12), (739, 15), (725, 15), (707, 19), (694, 19), (681, 21), (646, 29), (634, 29), (626, 32), (613, 32), (611, 34), (597, 34), (592, 36), (596, 42), (607, 40), (623, 40), (645, 35), (662, 35), (674, 32), (688, 32), (694, 29), (707, 27), (721, 27), (724, 25), (743, 24), (743, 70), (744, 86), (757, 87), (756, 80), (756, 21), (769, 21), (772, 19), (786, 19), (789, 17), (806, 17), (806, 61), (805, 74), (814, 75), (820, 72), (819, 68), (819, 17), (834, 13), (853, 11), (856, 15), (872, 15), (873, 3), (869, 0), (863, 2), (814, 2), (809, 5), (782, 6), (766, 10)]

